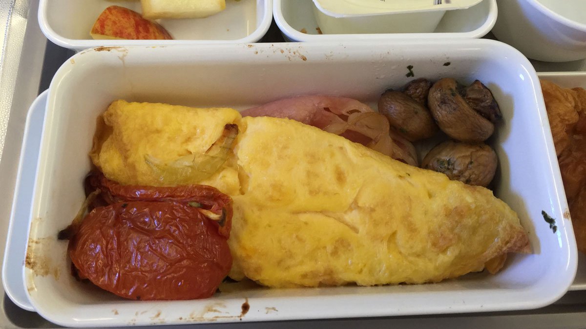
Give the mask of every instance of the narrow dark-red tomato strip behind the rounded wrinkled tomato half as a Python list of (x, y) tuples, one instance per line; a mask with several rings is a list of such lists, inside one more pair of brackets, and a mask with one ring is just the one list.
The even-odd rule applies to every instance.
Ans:
[(122, 201), (175, 201), (188, 204), (196, 202), (201, 207), (216, 214), (222, 214), (226, 220), (218, 225), (220, 234), (230, 237), (232, 226), (232, 198), (218, 189), (207, 185), (188, 185), (176, 187), (153, 187), (139, 185), (120, 185), (107, 179), (103, 173), (91, 172), (86, 177), (86, 194), (101, 190), (101, 200), (94, 206), (102, 206)]

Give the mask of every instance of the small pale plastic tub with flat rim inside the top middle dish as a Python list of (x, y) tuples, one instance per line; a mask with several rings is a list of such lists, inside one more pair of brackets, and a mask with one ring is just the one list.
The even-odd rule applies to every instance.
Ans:
[(314, 0), (314, 15), (325, 34), (432, 33), (447, 11), (461, 10), (481, 0)]

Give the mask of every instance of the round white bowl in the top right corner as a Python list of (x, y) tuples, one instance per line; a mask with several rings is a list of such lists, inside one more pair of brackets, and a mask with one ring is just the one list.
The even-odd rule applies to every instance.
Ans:
[(525, 56), (541, 61), (586, 58), (586, 1), (497, 0), (493, 33)]

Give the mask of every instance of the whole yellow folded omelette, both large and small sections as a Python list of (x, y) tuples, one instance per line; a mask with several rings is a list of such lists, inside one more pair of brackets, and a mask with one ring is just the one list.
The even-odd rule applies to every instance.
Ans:
[(205, 153), (236, 124), (220, 170), (202, 181), (234, 200), (234, 279), (271, 287), (439, 282), (529, 252), (515, 211), (483, 187), (451, 181), (297, 121), (229, 108), (115, 101), (91, 159), (122, 184), (169, 185), (163, 162)]

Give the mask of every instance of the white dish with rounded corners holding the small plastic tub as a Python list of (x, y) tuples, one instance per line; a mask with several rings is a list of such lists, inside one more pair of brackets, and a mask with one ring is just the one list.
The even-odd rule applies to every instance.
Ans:
[[(485, 36), (495, 25), (497, 17), (496, 0), (482, 0), (479, 4), (468, 9), (448, 11), (443, 15), (435, 29), (431, 33), (369, 33), (357, 34), (359, 32), (374, 32), (372, 24), (364, 23), (355, 26), (352, 33), (346, 34), (321, 34), (326, 33), (315, 18), (314, 11), (317, 9), (312, 0), (274, 0), (273, 16), (275, 22), (281, 29), (285, 40), (291, 42), (324, 42), (338, 41), (348, 42), (352, 40), (394, 40), (394, 39), (473, 39)], [(403, 14), (406, 15), (406, 14)], [(409, 14), (411, 15), (411, 14)], [(435, 13), (434, 13), (435, 15)], [(377, 16), (370, 16), (371, 19), (379, 19)], [(388, 23), (387, 19), (385, 23)], [(414, 32), (419, 25), (424, 24), (417, 20), (417, 25), (409, 22), (409, 32)], [(383, 24), (384, 23), (376, 23)], [(318, 31), (319, 27), (319, 31)]]

